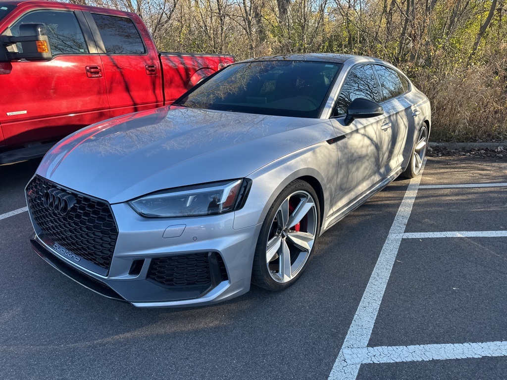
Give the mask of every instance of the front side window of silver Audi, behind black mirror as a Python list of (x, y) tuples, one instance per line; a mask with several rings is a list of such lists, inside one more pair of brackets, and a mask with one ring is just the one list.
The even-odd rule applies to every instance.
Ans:
[(356, 98), (379, 101), (377, 81), (371, 65), (354, 67), (343, 83), (336, 104), (335, 115), (347, 112), (347, 107)]

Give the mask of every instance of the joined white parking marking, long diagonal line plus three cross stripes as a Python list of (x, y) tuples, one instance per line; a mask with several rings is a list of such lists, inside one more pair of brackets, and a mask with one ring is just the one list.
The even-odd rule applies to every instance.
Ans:
[(355, 379), (361, 364), (396, 363), (447, 359), (507, 356), (507, 341), (463, 344), (437, 344), (420, 346), (367, 347), (380, 303), (402, 239), (415, 238), (473, 238), (507, 237), (507, 231), (449, 231), (405, 233), (419, 188), (501, 187), (507, 183), (478, 183), (463, 185), (419, 185), (421, 175), (410, 181), (405, 197), (394, 217), (387, 239), (359, 303), (343, 346), (329, 375), (329, 380)]

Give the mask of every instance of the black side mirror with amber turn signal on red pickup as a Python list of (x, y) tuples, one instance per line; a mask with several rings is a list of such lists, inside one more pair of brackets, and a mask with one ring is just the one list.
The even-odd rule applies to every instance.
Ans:
[[(26, 59), (27, 61), (51, 60), (51, 48), (44, 24), (21, 24), (19, 25), (19, 35), (19, 37), (2, 36), (1, 42), (4, 46), (0, 52), (1, 62), (17, 61), (18, 59)], [(21, 44), (22, 53), (8, 51), (7, 47), (18, 43)]]

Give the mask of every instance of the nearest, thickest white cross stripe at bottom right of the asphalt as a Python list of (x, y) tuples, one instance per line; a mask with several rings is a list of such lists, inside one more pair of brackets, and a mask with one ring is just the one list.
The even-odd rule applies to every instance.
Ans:
[(399, 363), (507, 356), (507, 341), (448, 345), (366, 347), (344, 350), (347, 362)]

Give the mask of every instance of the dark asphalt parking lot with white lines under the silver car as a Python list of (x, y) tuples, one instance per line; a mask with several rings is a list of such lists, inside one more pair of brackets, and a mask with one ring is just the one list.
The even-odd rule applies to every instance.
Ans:
[(0, 167), (0, 378), (507, 378), (504, 161), (429, 158), (321, 236), (284, 292), (151, 310), (31, 250), (37, 165)]

